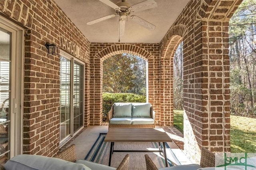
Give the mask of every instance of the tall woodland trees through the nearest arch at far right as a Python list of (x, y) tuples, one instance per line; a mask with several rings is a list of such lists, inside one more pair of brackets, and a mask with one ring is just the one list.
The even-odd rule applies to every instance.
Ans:
[(256, 0), (244, 0), (230, 20), (230, 109), (256, 114)]

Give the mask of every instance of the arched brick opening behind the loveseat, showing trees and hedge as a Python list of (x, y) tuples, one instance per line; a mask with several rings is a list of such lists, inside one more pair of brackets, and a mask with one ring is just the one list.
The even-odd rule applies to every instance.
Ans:
[(148, 62), (130, 53), (120, 53), (102, 61), (102, 121), (108, 121), (108, 111), (116, 102), (148, 101)]

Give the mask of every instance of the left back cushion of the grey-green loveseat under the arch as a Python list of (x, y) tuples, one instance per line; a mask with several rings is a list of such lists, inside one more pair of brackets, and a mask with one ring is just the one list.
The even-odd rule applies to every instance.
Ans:
[(114, 103), (113, 117), (132, 117), (131, 103)]

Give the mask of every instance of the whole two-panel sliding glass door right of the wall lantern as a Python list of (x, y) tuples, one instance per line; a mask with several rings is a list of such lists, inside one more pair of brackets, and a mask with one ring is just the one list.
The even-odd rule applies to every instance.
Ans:
[(60, 145), (63, 145), (84, 126), (84, 64), (62, 52), (60, 67)]

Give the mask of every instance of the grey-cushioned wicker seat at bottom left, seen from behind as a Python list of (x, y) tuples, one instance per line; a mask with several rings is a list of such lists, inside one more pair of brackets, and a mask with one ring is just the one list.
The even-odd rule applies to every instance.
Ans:
[(6, 170), (128, 170), (126, 154), (118, 168), (97, 164), (88, 160), (76, 160), (75, 145), (71, 145), (54, 157), (20, 154), (6, 162)]

